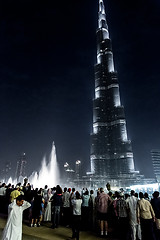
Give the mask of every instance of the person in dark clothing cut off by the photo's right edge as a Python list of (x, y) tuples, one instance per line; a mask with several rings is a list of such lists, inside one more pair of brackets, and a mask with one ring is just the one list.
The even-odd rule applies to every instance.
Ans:
[(153, 194), (153, 199), (151, 199), (151, 205), (155, 213), (155, 233), (156, 239), (160, 240), (160, 197), (159, 192), (155, 191)]

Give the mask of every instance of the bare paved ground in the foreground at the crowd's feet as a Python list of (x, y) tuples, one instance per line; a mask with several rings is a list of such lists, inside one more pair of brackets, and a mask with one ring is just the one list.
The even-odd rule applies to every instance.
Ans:
[[(0, 215), (0, 236), (6, 221), (6, 216)], [(27, 225), (27, 223), (23, 223), (23, 240), (71, 240), (72, 231), (70, 228), (59, 227), (52, 229), (50, 226), (50, 223), (45, 223), (41, 227), (31, 228)], [(111, 237), (105, 237), (103, 239), (118, 240)], [(97, 237), (94, 232), (81, 231), (80, 240), (102, 240), (102, 238)]]

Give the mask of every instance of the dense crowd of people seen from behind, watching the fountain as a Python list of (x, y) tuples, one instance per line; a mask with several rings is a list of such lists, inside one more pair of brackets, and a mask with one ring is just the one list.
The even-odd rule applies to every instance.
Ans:
[[(149, 198), (147, 193), (138, 194), (134, 190), (125, 194), (123, 189), (77, 191), (76, 188), (62, 189), (60, 185), (33, 189), (30, 183), (18, 183), (15, 187), (1, 183), (0, 212), (8, 213), (4, 236), (10, 228), (8, 222), (12, 222), (11, 210), (16, 209), (16, 216), (19, 207), (22, 209), (19, 219), (25, 210), (22, 219), (28, 220), (30, 227), (40, 227), (44, 222), (50, 222), (53, 229), (63, 225), (72, 229), (72, 238), (76, 240), (79, 232), (86, 230), (96, 231), (101, 237), (112, 234), (122, 240), (160, 240), (158, 191)], [(21, 240), (21, 234), (20, 231), (17, 239)]]

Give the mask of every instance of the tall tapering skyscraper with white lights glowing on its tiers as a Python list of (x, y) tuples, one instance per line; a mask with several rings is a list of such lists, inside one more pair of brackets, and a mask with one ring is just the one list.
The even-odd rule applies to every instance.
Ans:
[(115, 179), (135, 171), (103, 0), (99, 0), (91, 172)]

